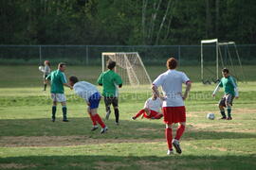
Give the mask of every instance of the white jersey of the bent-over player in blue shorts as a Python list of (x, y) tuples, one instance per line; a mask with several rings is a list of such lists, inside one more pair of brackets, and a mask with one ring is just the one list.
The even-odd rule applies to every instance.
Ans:
[(86, 82), (86, 81), (79, 81), (74, 86), (73, 89), (76, 94), (81, 96), (84, 100), (89, 101), (89, 98), (94, 93), (99, 93), (96, 86)]

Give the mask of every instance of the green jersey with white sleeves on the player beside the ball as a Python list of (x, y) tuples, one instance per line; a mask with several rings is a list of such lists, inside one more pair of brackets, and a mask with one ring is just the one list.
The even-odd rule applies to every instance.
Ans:
[(235, 88), (237, 88), (237, 84), (233, 76), (222, 77), (218, 86), (224, 88), (225, 94), (230, 93), (235, 96)]

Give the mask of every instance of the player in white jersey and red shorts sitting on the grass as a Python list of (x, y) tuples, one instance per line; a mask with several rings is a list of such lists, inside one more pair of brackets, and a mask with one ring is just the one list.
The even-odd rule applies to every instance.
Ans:
[(147, 119), (160, 119), (163, 114), (160, 112), (162, 108), (162, 100), (153, 93), (152, 97), (148, 98), (145, 102), (144, 108), (139, 110), (135, 116), (132, 117), (136, 120), (137, 117), (142, 115), (141, 118), (145, 117)]

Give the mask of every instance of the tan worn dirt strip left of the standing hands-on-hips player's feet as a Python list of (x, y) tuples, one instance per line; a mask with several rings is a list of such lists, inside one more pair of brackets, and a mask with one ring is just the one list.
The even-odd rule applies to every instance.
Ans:
[(3, 136), (0, 138), (1, 147), (17, 146), (67, 146), (83, 144), (119, 144), (119, 143), (154, 143), (162, 140), (148, 139), (91, 139), (86, 136)]

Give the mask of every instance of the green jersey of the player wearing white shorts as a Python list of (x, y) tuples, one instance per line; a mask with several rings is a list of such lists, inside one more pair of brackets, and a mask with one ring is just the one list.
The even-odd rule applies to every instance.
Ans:
[(46, 79), (50, 80), (50, 93), (64, 93), (64, 83), (67, 83), (64, 72), (55, 70)]

